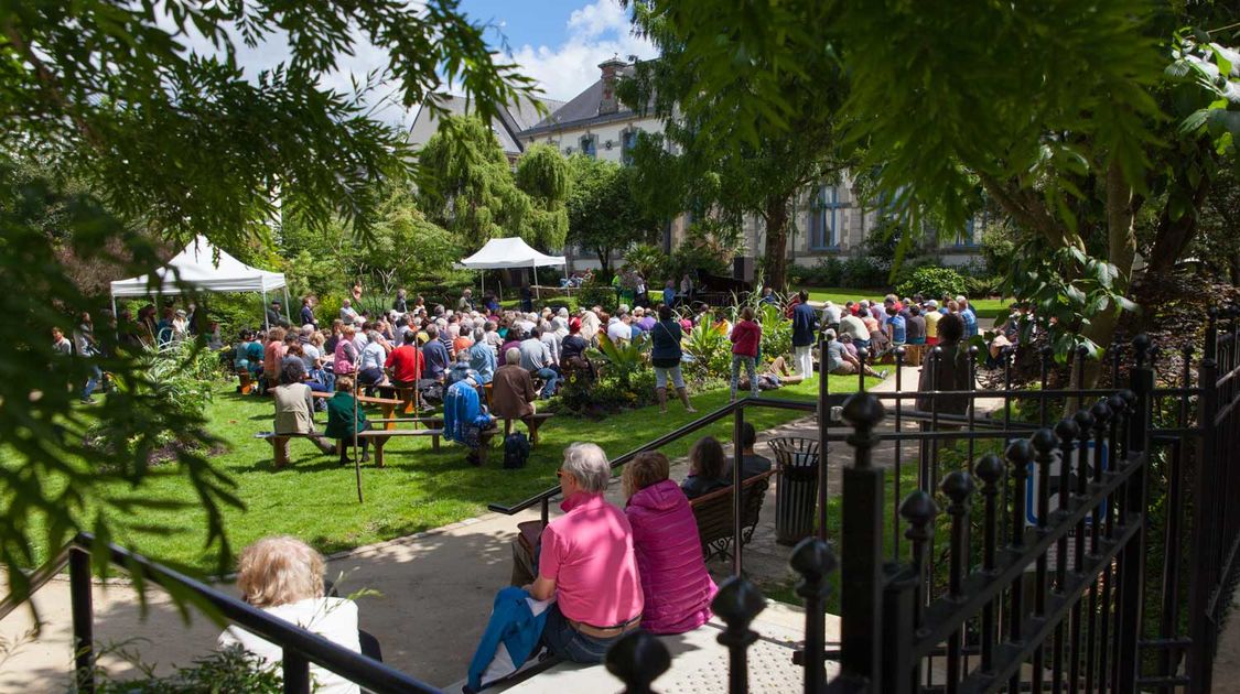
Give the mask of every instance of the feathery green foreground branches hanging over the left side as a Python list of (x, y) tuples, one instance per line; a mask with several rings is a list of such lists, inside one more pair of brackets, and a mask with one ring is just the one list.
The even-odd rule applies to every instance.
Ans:
[[(379, 84), (391, 79), (407, 107), (458, 84), (482, 115), (529, 92), (482, 32), (453, 0), (2, 4), (0, 268), (21, 288), (4, 309), (21, 318), (0, 326), (0, 563), (17, 595), (38, 548), (53, 551), (77, 529), (123, 539), (126, 509), (186, 506), (146, 493), (151, 475), (192, 486), (221, 569), (219, 508), (241, 503), (206, 447), (150, 467), (161, 434), (215, 442), (192, 413), (169, 406), (145, 353), (117, 348), (107, 296), (74, 284), (62, 250), (122, 278), (151, 271), (197, 234), (224, 248), (269, 243), (280, 214), (343, 219), (366, 238), (384, 178), (408, 167), (402, 134), (371, 115)], [(325, 88), (362, 41), (387, 52), (387, 69), (347, 93)], [(286, 42), (289, 57), (247, 73), (241, 42)], [(104, 356), (58, 359), (51, 328), (71, 330), (82, 312), (95, 317)], [(93, 366), (119, 388), (87, 413), (71, 393)], [(93, 428), (113, 444), (89, 446)]]

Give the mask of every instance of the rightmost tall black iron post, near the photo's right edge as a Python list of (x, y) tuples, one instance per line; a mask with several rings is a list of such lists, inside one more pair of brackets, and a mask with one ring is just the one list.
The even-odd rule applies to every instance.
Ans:
[(1190, 692), (1209, 692), (1214, 669), (1214, 626), (1208, 613), (1214, 585), (1213, 559), (1215, 528), (1207, 524), (1216, 517), (1218, 494), (1218, 431), (1215, 415), (1219, 411), (1218, 328), (1219, 311), (1210, 309), (1205, 327), (1205, 357), (1198, 367), (1197, 380), (1202, 387), (1198, 399), (1197, 424), (1202, 436), (1197, 442), (1197, 473), (1193, 511), (1193, 575), (1189, 582), (1188, 636), (1193, 644), (1188, 649), (1188, 677)]

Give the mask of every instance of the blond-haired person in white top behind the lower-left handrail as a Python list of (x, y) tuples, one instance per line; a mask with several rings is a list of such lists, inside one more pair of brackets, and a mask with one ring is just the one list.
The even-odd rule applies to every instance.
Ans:
[[(304, 542), (288, 535), (263, 538), (242, 550), (237, 587), (252, 606), (361, 653), (357, 605), (324, 596), (324, 569), (322, 555)], [(236, 625), (219, 635), (218, 644), (241, 646), (275, 665), (284, 658), (283, 648)], [(310, 678), (311, 689), (319, 694), (361, 692), (356, 684), (315, 664), (310, 665)]]

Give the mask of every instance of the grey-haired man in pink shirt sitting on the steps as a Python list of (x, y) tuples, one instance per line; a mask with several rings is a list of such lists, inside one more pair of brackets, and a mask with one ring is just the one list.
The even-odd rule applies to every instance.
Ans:
[(570, 445), (557, 475), (564, 516), (543, 529), (538, 578), (526, 590), (536, 600), (556, 596), (542, 636), (552, 653), (600, 663), (611, 643), (641, 623), (632, 528), (624, 512), (603, 498), (611, 478), (603, 449)]

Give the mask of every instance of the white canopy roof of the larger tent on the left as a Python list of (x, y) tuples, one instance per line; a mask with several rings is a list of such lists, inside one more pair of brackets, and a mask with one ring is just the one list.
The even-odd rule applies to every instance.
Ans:
[(141, 275), (112, 283), (112, 295), (181, 294), (177, 281), (200, 291), (270, 291), (285, 286), (283, 273), (250, 268), (223, 250), (216, 264), (215, 254), (216, 247), (198, 237), (166, 265), (155, 270), (154, 279)]

